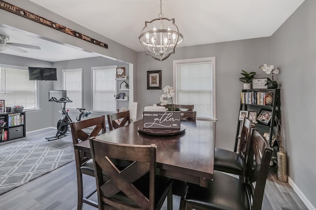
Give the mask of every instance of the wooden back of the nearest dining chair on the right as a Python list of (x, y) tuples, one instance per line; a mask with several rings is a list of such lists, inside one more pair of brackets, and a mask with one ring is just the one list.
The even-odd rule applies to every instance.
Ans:
[[(250, 149), (246, 165), (246, 184), (252, 197), (252, 209), (262, 207), (272, 148), (269, 142), (256, 130), (251, 130)], [(253, 182), (256, 182), (255, 187)]]

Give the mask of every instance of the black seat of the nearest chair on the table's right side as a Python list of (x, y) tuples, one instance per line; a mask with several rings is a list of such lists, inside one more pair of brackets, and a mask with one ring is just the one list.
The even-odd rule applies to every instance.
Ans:
[(185, 201), (206, 209), (250, 209), (245, 183), (231, 175), (216, 171), (213, 177), (214, 180), (208, 182), (207, 188), (190, 184)]

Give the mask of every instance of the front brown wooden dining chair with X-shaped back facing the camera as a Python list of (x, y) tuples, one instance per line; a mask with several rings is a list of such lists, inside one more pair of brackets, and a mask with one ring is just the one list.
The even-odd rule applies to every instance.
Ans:
[[(159, 210), (167, 197), (172, 209), (172, 179), (156, 175), (156, 144), (131, 145), (90, 139), (99, 210)], [(120, 170), (112, 160), (127, 160)], [(106, 171), (110, 180), (104, 180)]]

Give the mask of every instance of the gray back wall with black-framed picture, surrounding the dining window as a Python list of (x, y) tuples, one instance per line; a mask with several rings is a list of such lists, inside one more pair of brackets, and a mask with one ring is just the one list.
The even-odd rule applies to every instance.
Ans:
[[(181, 45), (180, 45), (181, 46)], [(162, 87), (173, 85), (173, 60), (215, 57), (216, 59), (216, 146), (234, 149), (239, 114), (241, 70), (257, 71), (261, 64), (270, 63), (270, 39), (255, 38), (239, 41), (179, 47), (176, 53), (160, 62), (137, 54), (138, 115), (144, 106), (159, 102), (162, 90), (147, 90), (147, 70), (162, 70)], [(194, 72), (192, 72), (194, 73)], [(266, 76), (266, 75), (261, 75)], [(258, 75), (260, 77), (260, 75)]]

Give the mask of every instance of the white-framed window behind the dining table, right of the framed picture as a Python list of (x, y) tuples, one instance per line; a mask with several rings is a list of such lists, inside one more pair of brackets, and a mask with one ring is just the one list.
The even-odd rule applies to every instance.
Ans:
[(198, 118), (215, 119), (215, 57), (173, 61), (176, 104), (194, 104)]

